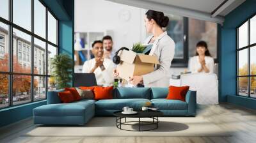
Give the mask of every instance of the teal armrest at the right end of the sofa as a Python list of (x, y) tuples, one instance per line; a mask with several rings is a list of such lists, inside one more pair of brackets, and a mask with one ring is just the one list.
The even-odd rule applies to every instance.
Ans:
[(196, 115), (196, 91), (188, 91), (186, 94), (186, 103), (188, 103), (188, 115)]

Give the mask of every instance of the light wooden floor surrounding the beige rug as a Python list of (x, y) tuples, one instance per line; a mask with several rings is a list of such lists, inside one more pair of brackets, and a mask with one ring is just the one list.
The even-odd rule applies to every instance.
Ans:
[[(229, 104), (209, 105), (198, 108), (197, 116), (205, 117), (220, 128), (235, 130), (228, 137), (22, 137), (33, 125), (32, 119), (25, 119), (0, 129), (0, 142), (68, 142), (68, 143), (160, 143), (160, 142), (256, 142), (256, 112)], [(204, 130), (204, 128), (202, 128)], [(111, 131), (109, 131), (111, 132)]]

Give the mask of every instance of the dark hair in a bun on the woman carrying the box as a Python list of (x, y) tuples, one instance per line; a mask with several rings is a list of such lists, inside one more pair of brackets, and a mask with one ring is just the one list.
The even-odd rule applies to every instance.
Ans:
[(168, 26), (169, 18), (164, 16), (163, 12), (154, 11), (154, 10), (148, 10), (146, 12), (146, 15), (147, 15), (147, 19), (148, 20), (154, 19), (158, 26), (160, 26), (160, 27)]

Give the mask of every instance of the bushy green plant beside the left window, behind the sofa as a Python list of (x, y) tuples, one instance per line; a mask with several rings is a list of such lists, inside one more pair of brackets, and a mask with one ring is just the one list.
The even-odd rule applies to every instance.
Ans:
[(56, 88), (70, 87), (72, 80), (72, 59), (67, 54), (59, 54), (51, 59), (52, 79), (56, 81)]

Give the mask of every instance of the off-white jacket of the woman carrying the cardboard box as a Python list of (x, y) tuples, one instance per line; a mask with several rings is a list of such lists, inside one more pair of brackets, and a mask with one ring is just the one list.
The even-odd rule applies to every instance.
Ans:
[[(147, 44), (152, 36), (145, 40)], [(154, 41), (153, 47), (150, 50), (150, 55), (153, 54), (159, 59), (159, 64), (154, 66), (154, 72), (142, 75), (145, 87), (168, 87), (170, 80), (170, 67), (175, 52), (175, 43), (165, 31)]]

